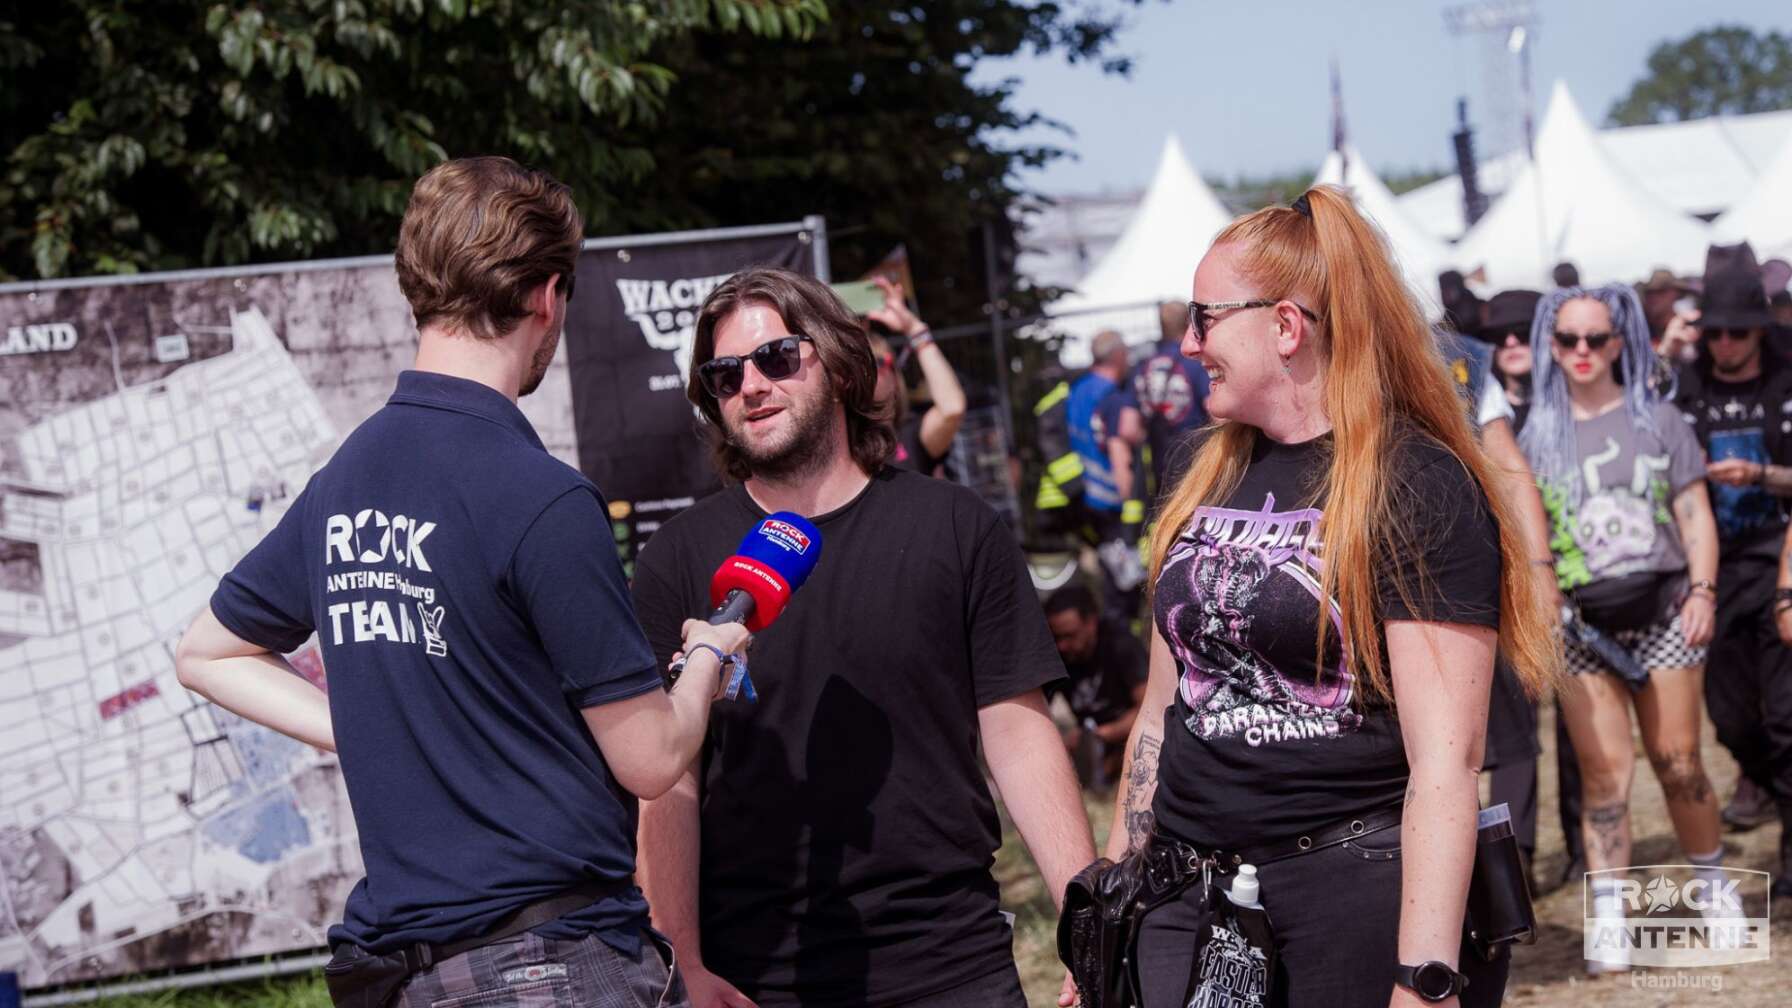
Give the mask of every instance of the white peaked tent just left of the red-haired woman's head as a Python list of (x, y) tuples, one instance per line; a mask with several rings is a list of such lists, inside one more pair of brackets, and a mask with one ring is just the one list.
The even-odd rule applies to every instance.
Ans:
[(1188, 300), (1195, 265), (1231, 213), (1213, 197), (1183, 156), (1183, 145), (1163, 142), (1158, 170), (1107, 255), (1047, 307), (1052, 328), (1063, 332), (1063, 361), (1090, 362), (1090, 341), (1104, 328), (1120, 330), (1127, 343), (1158, 341), (1158, 301)]

